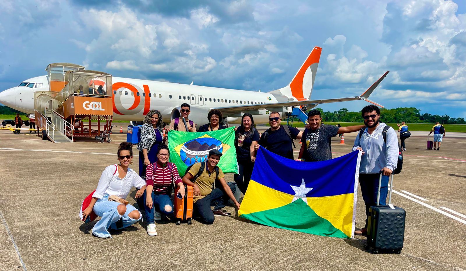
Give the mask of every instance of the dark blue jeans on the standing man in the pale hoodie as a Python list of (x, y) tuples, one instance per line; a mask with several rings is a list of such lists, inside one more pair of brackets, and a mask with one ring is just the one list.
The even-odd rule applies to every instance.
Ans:
[[(369, 214), (369, 207), (377, 205), (377, 190), (379, 174), (359, 174), (359, 185), (361, 185), (361, 193), (363, 194), (364, 203), (366, 205), (366, 225)], [(389, 176), (382, 175), (382, 183), (380, 185), (379, 205), (385, 205), (385, 200), (388, 194)]]

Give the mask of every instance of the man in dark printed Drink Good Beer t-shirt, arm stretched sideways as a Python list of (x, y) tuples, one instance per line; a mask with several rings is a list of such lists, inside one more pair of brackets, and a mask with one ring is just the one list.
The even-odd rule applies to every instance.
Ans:
[(332, 159), (332, 138), (339, 133), (356, 132), (365, 127), (363, 125), (338, 127), (321, 123), (319, 110), (308, 113), (309, 125), (302, 133), (302, 146), (297, 160), (306, 162), (325, 161)]

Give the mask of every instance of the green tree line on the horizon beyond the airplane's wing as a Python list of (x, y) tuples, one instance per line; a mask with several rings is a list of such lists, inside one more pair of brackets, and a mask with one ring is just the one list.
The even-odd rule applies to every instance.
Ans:
[[(322, 113), (322, 119), (328, 122), (363, 122), (361, 112), (349, 112), (342, 108), (338, 111), (323, 111), (322, 108), (315, 108)], [(308, 110), (310, 111), (310, 110)], [(432, 115), (430, 113), (421, 114), (421, 110), (415, 107), (381, 108), (380, 119), (385, 123), (440, 123), (446, 124), (466, 124), (464, 118), (451, 118), (448, 115)]]

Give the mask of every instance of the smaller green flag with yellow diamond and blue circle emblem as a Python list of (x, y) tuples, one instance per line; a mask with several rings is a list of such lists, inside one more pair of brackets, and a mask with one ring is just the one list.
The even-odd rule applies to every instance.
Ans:
[(219, 168), (224, 173), (238, 173), (236, 149), (234, 147), (234, 127), (210, 132), (168, 132), (170, 162), (175, 163), (181, 177), (188, 166), (205, 162), (209, 151), (218, 150), (223, 155)]

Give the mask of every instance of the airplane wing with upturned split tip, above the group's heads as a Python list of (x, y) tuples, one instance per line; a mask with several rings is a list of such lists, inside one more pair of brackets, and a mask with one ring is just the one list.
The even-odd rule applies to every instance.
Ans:
[(384, 107), (380, 104), (377, 104), (374, 101), (369, 99), (370, 94), (376, 89), (376, 87), (382, 82), (382, 80), (387, 76), (389, 72), (384, 73), (372, 86), (370, 86), (363, 94), (355, 97), (344, 97), (344, 98), (333, 98), (333, 99), (320, 99), (320, 100), (301, 100), (301, 101), (288, 101), (280, 103), (269, 103), (269, 104), (258, 104), (258, 105), (243, 105), (243, 106), (226, 106), (226, 107), (212, 107), (211, 109), (218, 109), (224, 116), (236, 117), (241, 116), (242, 113), (251, 113), (251, 114), (260, 114), (260, 109), (266, 109), (267, 111), (276, 111), (276, 112), (288, 112), (285, 107), (288, 106), (317, 106), (318, 104), (326, 103), (335, 103), (335, 102), (345, 102), (345, 101), (354, 101), (354, 100), (365, 100), (376, 106)]

